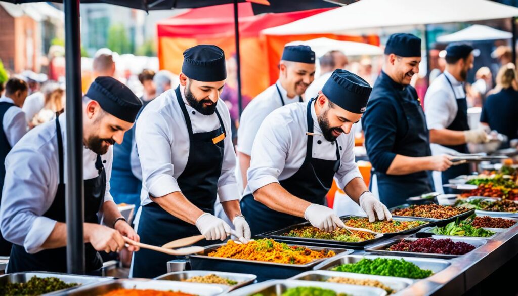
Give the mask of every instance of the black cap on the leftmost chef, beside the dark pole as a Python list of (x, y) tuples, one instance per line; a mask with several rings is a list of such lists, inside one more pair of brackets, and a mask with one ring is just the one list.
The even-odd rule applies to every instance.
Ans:
[(122, 82), (112, 77), (95, 78), (86, 96), (97, 101), (109, 114), (131, 123), (135, 122), (142, 107), (139, 98)]

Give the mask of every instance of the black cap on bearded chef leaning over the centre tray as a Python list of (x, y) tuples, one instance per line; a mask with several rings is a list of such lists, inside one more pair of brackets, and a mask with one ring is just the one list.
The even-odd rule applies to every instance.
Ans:
[(336, 69), (322, 88), (329, 101), (355, 114), (365, 112), (371, 91), (367, 81), (342, 69)]

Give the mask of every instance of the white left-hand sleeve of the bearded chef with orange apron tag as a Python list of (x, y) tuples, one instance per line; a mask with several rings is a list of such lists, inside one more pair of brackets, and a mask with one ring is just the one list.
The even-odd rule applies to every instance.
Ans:
[(143, 113), (137, 120), (136, 141), (142, 180), (154, 197), (180, 191), (171, 163), (172, 134), (160, 112)]

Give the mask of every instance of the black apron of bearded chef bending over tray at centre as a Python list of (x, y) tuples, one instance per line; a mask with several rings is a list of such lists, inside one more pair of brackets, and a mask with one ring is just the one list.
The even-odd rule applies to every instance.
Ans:
[[(307, 121), (308, 132), (313, 132), (313, 118), (311, 117), (311, 104), (308, 102)], [(333, 184), (333, 177), (340, 167), (340, 150), (336, 143), (336, 160), (323, 160), (312, 158), (313, 136), (308, 134), (306, 158), (298, 171), (291, 177), (280, 180), (280, 185), (286, 191), (310, 203), (324, 205), (325, 195)], [(289, 206), (289, 205), (286, 205)], [(241, 200), (241, 212), (247, 217), (252, 235), (267, 231), (279, 230), (289, 225), (301, 223), (306, 219), (292, 216), (272, 210), (264, 204), (254, 200), (252, 194), (248, 194)]]

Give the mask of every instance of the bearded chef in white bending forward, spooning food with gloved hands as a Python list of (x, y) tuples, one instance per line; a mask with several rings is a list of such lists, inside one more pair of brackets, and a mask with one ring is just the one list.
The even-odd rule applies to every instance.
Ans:
[(337, 69), (316, 98), (266, 117), (252, 148), (241, 201), (253, 235), (306, 220), (324, 231), (343, 228), (334, 210), (325, 206), (333, 178), (370, 221), (392, 219), (368, 191), (354, 161), (350, 131), (362, 118), (371, 90), (362, 78)]

